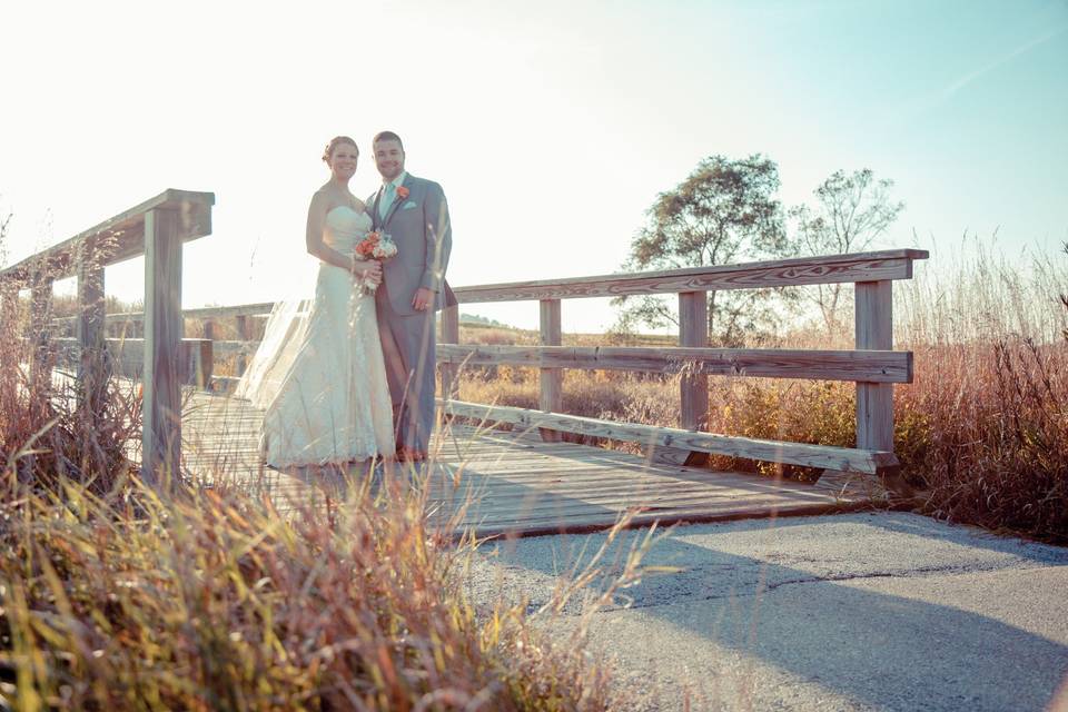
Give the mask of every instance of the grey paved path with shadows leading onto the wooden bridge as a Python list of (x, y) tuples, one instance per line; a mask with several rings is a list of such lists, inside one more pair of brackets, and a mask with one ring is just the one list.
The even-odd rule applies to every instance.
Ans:
[[(536, 610), (604, 542), (486, 544), (471, 590)], [(643, 563), (682, 571), (586, 616), (625, 709), (1068, 711), (1068, 548), (877, 512), (680, 526)]]

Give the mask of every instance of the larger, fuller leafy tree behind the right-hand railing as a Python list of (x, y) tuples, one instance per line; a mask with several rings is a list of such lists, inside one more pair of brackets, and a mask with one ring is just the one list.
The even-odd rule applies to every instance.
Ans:
[[(646, 211), (631, 243), (629, 271), (708, 267), (780, 257), (789, 249), (783, 229), (779, 167), (759, 154), (739, 160), (710, 156)], [(713, 343), (738, 346), (767, 337), (781, 318), (779, 289), (709, 293)], [(787, 295), (788, 296), (788, 295)], [(619, 297), (620, 325), (653, 328), (678, 324), (674, 303), (663, 297)]]

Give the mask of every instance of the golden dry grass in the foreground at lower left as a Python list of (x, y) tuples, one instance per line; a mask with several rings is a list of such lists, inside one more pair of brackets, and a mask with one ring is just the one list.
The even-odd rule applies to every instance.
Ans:
[[(294, 515), (227, 473), (142, 486), (136, 392), (42, 375), (55, 355), (37, 350), (47, 335), (18, 338), (28, 310), (0, 334), (0, 709), (616, 705), (585, 623), (541, 633), (562, 605), (467, 597), (476, 544), (432, 524), (418, 487), (357, 477)], [(557, 601), (604, 575), (580, 572)]]

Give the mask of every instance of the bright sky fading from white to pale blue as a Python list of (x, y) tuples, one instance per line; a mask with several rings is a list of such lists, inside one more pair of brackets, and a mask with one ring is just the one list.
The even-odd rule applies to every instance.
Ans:
[[(212, 190), (187, 306), (307, 279), (322, 146), (382, 128), (445, 187), (456, 285), (617, 270), (657, 191), (712, 154), (777, 160), (785, 205), (839, 168), (894, 179), (883, 246), (1068, 239), (1066, 0), (19, 3), (0, 66), (10, 260), (164, 188)], [(364, 160), (355, 192), (376, 178)], [(138, 294), (139, 269), (108, 291)], [(564, 328), (613, 316), (568, 301)]]

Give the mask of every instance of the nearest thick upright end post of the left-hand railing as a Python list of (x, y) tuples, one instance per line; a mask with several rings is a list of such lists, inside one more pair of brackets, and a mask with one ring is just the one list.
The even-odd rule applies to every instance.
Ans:
[(151, 486), (179, 475), (181, 240), (175, 210), (145, 215), (145, 370), (141, 477)]

